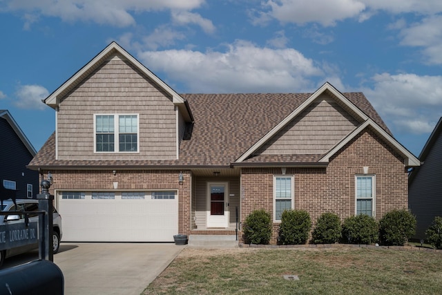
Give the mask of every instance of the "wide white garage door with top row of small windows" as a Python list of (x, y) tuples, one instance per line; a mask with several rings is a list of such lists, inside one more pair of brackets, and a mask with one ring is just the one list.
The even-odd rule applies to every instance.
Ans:
[(173, 242), (175, 191), (57, 192), (66, 242)]

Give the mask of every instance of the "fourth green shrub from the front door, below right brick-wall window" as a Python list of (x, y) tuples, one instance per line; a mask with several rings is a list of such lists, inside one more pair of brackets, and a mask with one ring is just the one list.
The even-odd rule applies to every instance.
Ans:
[(371, 216), (361, 214), (345, 218), (343, 238), (350, 244), (369, 245), (378, 239), (378, 225)]

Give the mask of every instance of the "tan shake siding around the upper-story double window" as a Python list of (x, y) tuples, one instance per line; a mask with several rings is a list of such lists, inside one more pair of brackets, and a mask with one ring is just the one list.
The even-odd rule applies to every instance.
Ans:
[[(113, 55), (60, 100), (58, 159), (176, 159), (177, 113), (171, 99), (135, 66)], [(94, 153), (94, 115), (113, 114), (139, 116), (136, 153)]]

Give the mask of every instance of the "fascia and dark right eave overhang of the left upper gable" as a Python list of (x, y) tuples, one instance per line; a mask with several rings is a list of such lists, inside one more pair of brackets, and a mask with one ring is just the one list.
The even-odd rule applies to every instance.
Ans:
[(119, 55), (122, 59), (127, 60), (133, 66), (138, 68), (141, 73), (146, 75), (149, 79), (151, 79), (155, 84), (157, 84), (160, 88), (162, 88), (168, 95), (172, 97), (172, 102), (178, 108), (184, 117), (186, 122), (193, 122), (193, 115), (190, 111), (190, 108), (186, 102), (186, 100), (176, 93), (169, 85), (164, 83), (162, 79), (153, 74), (148, 68), (146, 68), (140, 61), (137, 61), (135, 57), (130, 55), (126, 50), (124, 50), (121, 46), (119, 46), (115, 41), (109, 44), (102, 52), (96, 55), (92, 60), (88, 62), (83, 68), (77, 71), (72, 77), (70, 77), (64, 84), (59, 86), (53, 93), (51, 93), (46, 99), (44, 99), (44, 103), (52, 108), (56, 108), (60, 102), (60, 99), (64, 97), (69, 91), (71, 91), (75, 86), (80, 84), (88, 75), (93, 73), (95, 69), (97, 69), (104, 61), (113, 57), (113, 55)]

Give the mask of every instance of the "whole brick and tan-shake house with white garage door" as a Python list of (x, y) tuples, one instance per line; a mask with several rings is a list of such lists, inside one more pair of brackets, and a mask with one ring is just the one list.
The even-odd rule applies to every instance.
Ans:
[(407, 208), (419, 166), (362, 93), (178, 94), (115, 42), (44, 102), (56, 131), (29, 167), (52, 174), (66, 241), (235, 235), (263, 208), (274, 244), (284, 209)]

